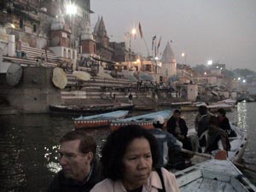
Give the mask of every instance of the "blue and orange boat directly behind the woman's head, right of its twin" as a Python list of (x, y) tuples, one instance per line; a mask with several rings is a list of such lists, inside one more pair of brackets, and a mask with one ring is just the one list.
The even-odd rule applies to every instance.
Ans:
[(125, 118), (125, 119), (118, 119), (118, 120), (113, 120), (110, 123), (110, 130), (115, 131), (118, 130), (119, 127), (124, 126), (124, 125), (140, 125), (144, 129), (153, 129), (153, 120), (154, 117), (157, 115), (162, 116), (165, 119), (165, 125), (167, 123), (167, 120), (171, 118), (172, 116), (172, 111), (171, 110), (163, 110), (155, 113), (147, 113), (131, 118)]

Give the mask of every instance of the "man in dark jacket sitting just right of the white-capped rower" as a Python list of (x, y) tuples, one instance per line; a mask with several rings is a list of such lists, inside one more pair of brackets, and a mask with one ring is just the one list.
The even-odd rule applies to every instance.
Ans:
[(185, 120), (181, 118), (181, 111), (175, 109), (172, 117), (167, 121), (167, 131), (183, 143), (183, 148), (192, 150), (191, 141), (187, 137), (188, 130)]

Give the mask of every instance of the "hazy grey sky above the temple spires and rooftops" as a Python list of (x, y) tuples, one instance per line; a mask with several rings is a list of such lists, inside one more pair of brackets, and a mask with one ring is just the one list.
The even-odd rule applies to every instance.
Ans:
[(103, 16), (110, 41), (125, 40), (137, 27), (131, 49), (147, 55), (138, 33), (141, 23), (150, 55), (152, 37), (161, 36), (160, 51), (172, 39), (177, 62), (226, 64), (228, 69), (256, 71), (256, 0), (90, 0), (91, 25)]

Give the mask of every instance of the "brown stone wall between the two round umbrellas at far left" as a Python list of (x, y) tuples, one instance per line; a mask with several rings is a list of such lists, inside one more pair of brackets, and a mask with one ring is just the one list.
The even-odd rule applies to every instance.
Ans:
[(48, 113), (49, 104), (61, 104), (61, 90), (52, 83), (53, 68), (23, 67), (20, 83), (7, 84), (1, 74), (0, 96), (20, 113)]

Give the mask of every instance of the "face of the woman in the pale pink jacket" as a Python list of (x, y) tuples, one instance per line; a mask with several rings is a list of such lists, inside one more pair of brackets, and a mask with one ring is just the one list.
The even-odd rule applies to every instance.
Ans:
[(123, 157), (123, 179), (125, 189), (137, 189), (147, 182), (152, 170), (152, 154), (148, 140), (135, 138), (127, 146)]

